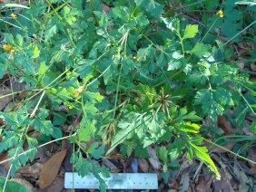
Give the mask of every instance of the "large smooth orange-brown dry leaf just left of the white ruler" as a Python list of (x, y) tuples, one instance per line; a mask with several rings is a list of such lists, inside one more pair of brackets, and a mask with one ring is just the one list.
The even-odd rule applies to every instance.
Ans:
[(66, 149), (56, 153), (45, 164), (40, 173), (39, 186), (45, 188), (51, 185), (56, 178), (66, 154)]

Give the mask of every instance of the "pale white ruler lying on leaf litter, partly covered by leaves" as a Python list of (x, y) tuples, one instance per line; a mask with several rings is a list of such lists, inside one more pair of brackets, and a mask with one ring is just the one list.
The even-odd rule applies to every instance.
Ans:
[[(110, 173), (110, 178), (103, 178), (108, 189), (157, 189), (158, 180), (155, 173)], [(74, 181), (74, 183), (73, 183)], [(65, 188), (99, 188), (99, 181), (93, 174), (78, 176), (67, 172), (64, 175)]]

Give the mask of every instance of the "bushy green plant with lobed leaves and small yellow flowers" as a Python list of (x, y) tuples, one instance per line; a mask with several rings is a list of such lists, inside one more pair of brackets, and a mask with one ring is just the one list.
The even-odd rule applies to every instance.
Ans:
[(179, 165), (186, 153), (220, 179), (202, 146), (202, 120), (214, 124), (226, 110), (246, 106), (234, 114), (242, 127), (246, 113), (255, 112), (251, 94), (241, 91), (255, 94), (255, 83), (226, 62), (231, 49), (214, 29), (230, 19), (235, 5), (217, 2), (196, 5), (214, 10), (203, 15), (203, 24), (153, 0), (112, 1), (107, 12), (99, 0), (40, 0), (15, 16), (5, 10), (12, 18), (1, 19), (6, 33), (0, 78), (6, 72), (18, 78), (27, 93), (15, 101), (19, 107), (0, 113), (5, 120), (0, 152), (12, 158), (10, 174), (33, 161), (39, 144), (68, 138), (74, 143), (74, 170), (93, 173), (101, 190), (106, 185), (99, 173), (109, 173), (94, 159), (113, 149), (147, 158), (152, 144), (158, 146), (162, 172)]

